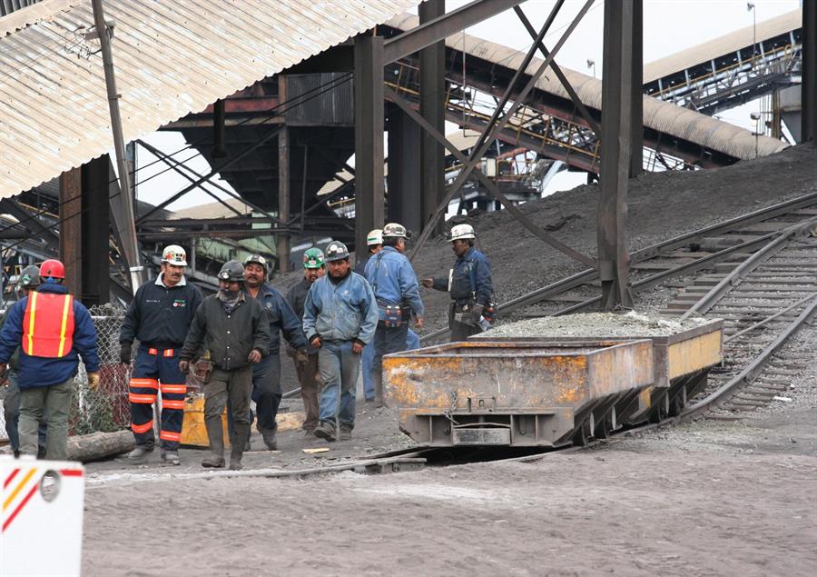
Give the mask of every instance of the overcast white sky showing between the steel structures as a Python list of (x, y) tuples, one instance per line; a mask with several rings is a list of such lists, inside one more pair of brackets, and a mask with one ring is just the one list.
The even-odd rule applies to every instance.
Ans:
[[(450, 11), (465, 4), (468, 4), (468, 0), (448, 0), (446, 9)], [(546, 36), (546, 45), (548, 47), (556, 44), (560, 35), (583, 4), (584, 2), (579, 0), (566, 1)], [(754, 0), (753, 4), (757, 11), (757, 21), (761, 22), (796, 9), (800, 2), (799, 0)], [(521, 7), (531, 24), (538, 28), (545, 23), (553, 5), (555, 5), (554, 0), (527, 0)], [(593, 70), (587, 68), (586, 61), (588, 59), (594, 60), (596, 62), (596, 76), (601, 77), (603, 20), (603, 2), (602, 0), (596, 0), (596, 3), (559, 51), (556, 62), (563, 67), (573, 68), (579, 72), (592, 75)], [(644, 0), (645, 63), (666, 55), (672, 55), (685, 48), (752, 24), (753, 14), (747, 10), (744, 0)], [(507, 11), (479, 25), (468, 28), (467, 33), (522, 51), (527, 51), (527, 48), (531, 45), (530, 36), (513, 11)], [(749, 114), (757, 109), (757, 103), (750, 103), (718, 114), (718, 117), (726, 122), (753, 130), (754, 122), (749, 118)], [(453, 128), (454, 125), (451, 124), (449, 129)], [(166, 153), (175, 152), (185, 146), (181, 134), (178, 133), (155, 133), (144, 140)], [(147, 153), (143, 148), (139, 149), (138, 154), (139, 166), (144, 166), (155, 159), (152, 154)], [(192, 155), (192, 153), (187, 154)], [(184, 156), (180, 155), (178, 158), (182, 159)], [(210, 171), (210, 166), (201, 156), (193, 159), (188, 165), (201, 174)], [(165, 167), (164, 164), (155, 164), (152, 167), (140, 170), (137, 182), (146, 179), (157, 170), (163, 170)], [(586, 175), (562, 173), (555, 180), (558, 189), (562, 190), (576, 186), (576, 184), (583, 184), (586, 182)], [(181, 176), (168, 172), (140, 186), (138, 195), (141, 200), (158, 204), (187, 184), (188, 181)], [(222, 181), (221, 184), (230, 188), (229, 184)], [(220, 195), (225, 196), (224, 194)], [(193, 192), (186, 194), (182, 199), (171, 204), (170, 208), (172, 210), (180, 209), (211, 201), (210, 196), (200, 192)]]

